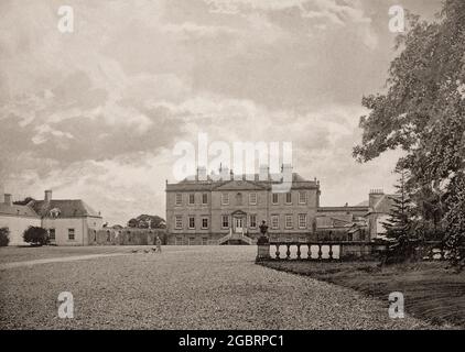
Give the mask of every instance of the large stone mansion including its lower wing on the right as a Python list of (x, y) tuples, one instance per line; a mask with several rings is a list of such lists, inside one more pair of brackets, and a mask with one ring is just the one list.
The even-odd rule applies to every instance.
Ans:
[(166, 182), (167, 243), (250, 244), (263, 220), (272, 240), (371, 241), (389, 217), (390, 197), (381, 190), (359, 206), (320, 207), (318, 180), (292, 173), (288, 193), (273, 193), (275, 183), (257, 174), (215, 180), (202, 168), (195, 177)]

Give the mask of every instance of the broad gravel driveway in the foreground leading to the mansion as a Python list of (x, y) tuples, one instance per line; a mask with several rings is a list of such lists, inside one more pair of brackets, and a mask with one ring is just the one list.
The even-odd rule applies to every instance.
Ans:
[[(164, 248), (0, 270), (0, 329), (420, 329), (388, 299), (253, 263), (256, 246)], [(61, 292), (74, 319), (57, 317)]]

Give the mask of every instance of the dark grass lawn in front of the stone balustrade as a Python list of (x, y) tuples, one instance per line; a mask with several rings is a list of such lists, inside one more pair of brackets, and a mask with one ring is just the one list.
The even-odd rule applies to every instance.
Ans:
[(385, 267), (375, 262), (269, 261), (261, 265), (350, 287), (383, 301), (390, 293), (401, 292), (408, 315), (465, 328), (465, 273), (457, 274), (443, 262)]

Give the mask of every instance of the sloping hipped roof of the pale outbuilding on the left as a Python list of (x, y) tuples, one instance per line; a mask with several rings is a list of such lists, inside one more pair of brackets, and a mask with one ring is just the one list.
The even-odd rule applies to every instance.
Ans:
[(35, 200), (32, 202), (32, 208), (41, 217), (51, 217), (51, 210), (58, 210), (57, 218), (82, 218), (94, 217), (101, 218), (101, 216), (90, 208), (80, 199), (52, 199), (48, 202), (45, 200)]

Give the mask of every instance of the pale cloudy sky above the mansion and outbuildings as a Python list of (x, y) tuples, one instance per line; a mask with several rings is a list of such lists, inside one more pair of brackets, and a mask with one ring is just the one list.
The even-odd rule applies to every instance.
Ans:
[[(389, 8), (440, 0), (2, 0), (0, 191), (84, 199), (111, 224), (165, 215), (177, 143), (292, 142), (321, 204), (391, 191), (398, 151), (359, 164), (364, 95), (396, 56)], [(58, 9), (71, 6), (74, 31)]]

